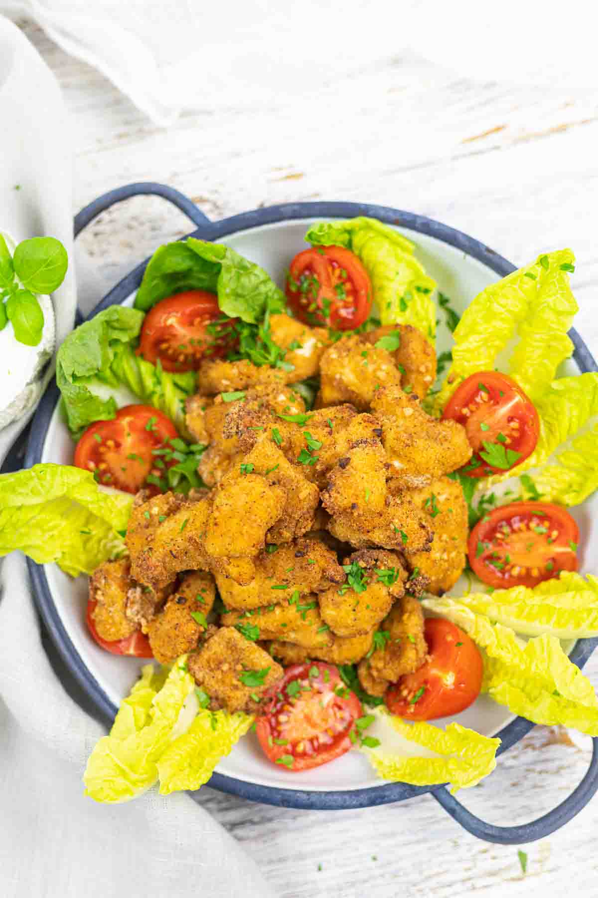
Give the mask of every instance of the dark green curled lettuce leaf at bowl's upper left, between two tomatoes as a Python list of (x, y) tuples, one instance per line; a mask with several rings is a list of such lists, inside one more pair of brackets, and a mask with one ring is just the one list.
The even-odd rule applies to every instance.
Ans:
[(185, 401), (195, 392), (195, 373), (169, 374), (135, 355), (143, 318), (137, 309), (112, 305), (75, 328), (58, 349), (56, 383), (74, 435), (93, 421), (115, 417), (111, 391), (121, 386), (134, 394), (126, 401), (153, 405), (185, 433)]

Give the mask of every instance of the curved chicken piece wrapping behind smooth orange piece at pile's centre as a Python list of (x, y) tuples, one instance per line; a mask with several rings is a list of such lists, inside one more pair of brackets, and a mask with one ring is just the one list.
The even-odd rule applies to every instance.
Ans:
[(267, 533), (268, 542), (290, 542), (312, 529), (320, 494), (316, 484), (306, 480), (305, 465), (290, 464), (265, 435), (245, 456), (244, 463), (253, 465), (252, 470), (263, 475), (272, 489), (284, 490), (282, 512)]

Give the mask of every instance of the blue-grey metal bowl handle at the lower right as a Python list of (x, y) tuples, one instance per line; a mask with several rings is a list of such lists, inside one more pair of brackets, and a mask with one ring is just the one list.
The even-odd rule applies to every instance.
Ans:
[(526, 842), (543, 839), (579, 814), (598, 789), (598, 738), (594, 738), (592, 743), (592, 760), (584, 779), (559, 806), (531, 823), (523, 823), (520, 826), (494, 826), (468, 811), (446, 787), (436, 789), (432, 795), (457, 823), (478, 839), (498, 842), (500, 845), (523, 845)]

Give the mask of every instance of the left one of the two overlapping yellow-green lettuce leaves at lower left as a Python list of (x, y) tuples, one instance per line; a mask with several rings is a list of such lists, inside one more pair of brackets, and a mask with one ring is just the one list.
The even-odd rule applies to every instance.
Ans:
[(151, 788), (158, 780), (161, 755), (191, 726), (197, 708), (195, 681), (186, 670), (185, 656), (166, 679), (146, 665), (109, 735), (91, 752), (83, 774), (85, 795), (114, 804)]

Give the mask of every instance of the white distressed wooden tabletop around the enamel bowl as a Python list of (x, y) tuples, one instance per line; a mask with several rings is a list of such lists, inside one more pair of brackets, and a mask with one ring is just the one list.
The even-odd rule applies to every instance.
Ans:
[[(252, 115), (206, 108), (162, 130), (38, 28), (22, 28), (56, 73), (72, 113), (74, 212), (118, 185), (158, 180), (212, 218), (287, 200), (351, 199), (438, 218), (516, 263), (570, 245), (582, 306), (576, 325), (598, 352), (598, 113), (590, 94), (559, 84), (475, 84), (399, 58), (323, 89), (306, 116), (283, 103)], [(101, 216), (77, 247), (83, 307), (160, 242), (189, 230), (185, 217), (157, 198)], [(598, 687), (598, 654), (586, 673)], [(461, 793), (464, 804), (498, 824), (545, 813), (585, 772), (589, 740), (574, 738), (537, 727), (490, 779)], [(201, 800), (282, 898), (598, 894), (598, 799), (564, 830), (524, 848), (526, 876), (516, 848), (476, 841), (429, 796), (331, 813), (250, 804), (209, 788)]]

